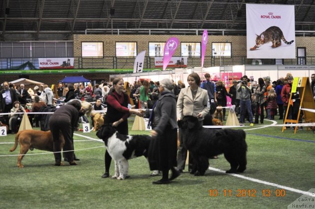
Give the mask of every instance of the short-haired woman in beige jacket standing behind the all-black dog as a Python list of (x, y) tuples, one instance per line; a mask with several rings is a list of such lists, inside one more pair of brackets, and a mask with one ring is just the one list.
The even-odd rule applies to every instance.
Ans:
[[(209, 113), (209, 96), (208, 91), (201, 89), (200, 77), (197, 73), (191, 73), (188, 76), (189, 87), (182, 89), (177, 99), (177, 120), (184, 116), (194, 116), (203, 124), (203, 119)], [(177, 169), (183, 172), (187, 158), (187, 149), (183, 147), (182, 131), (179, 129), (180, 146), (177, 154)], [(192, 166), (192, 159), (189, 156), (189, 168)], [(193, 173), (194, 171), (191, 171)]]

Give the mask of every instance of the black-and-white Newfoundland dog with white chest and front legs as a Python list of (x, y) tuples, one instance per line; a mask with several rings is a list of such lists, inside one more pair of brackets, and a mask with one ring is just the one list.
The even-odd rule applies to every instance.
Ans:
[(112, 126), (105, 124), (97, 131), (96, 136), (105, 143), (109, 155), (115, 161), (115, 175), (113, 179), (126, 179), (128, 176), (128, 159), (145, 156), (152, 139), (149, 135), (123, 135)]

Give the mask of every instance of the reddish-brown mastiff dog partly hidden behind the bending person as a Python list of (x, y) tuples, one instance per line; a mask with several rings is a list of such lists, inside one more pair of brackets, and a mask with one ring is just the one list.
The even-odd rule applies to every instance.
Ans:
[[(63, 134), (60, 132), (60, 146), (63, 149), (64, 138)], [(21, 161), (24, 155), (29, 151), (29, 149), (33, 150), (40, 149), (46, 151), (54, 151), (54, 143), (53, 136), (50, 131), (39, 131), (39, 130), (23, 130), (19, 131), (15, 135), (15, 143), (14, 146), (10, 149), (10, 151), (14, 151), (18, 142), (20, 144), (20, 153), (18, 156), (18, 167), (23, 168)]]

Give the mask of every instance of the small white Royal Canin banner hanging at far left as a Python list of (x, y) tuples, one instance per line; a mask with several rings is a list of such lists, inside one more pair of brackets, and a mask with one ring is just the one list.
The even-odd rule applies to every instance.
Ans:
[(73, 69), (74, 58), (38, 58), (39, 69)]

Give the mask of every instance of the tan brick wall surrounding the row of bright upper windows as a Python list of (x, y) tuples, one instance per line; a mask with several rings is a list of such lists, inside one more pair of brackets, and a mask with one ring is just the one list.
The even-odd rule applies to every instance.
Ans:
[[(148, 55), (148, 47), (149, 42), (166, 42), (167, 39), (171, 35), (79, 35), (75, 34), (73, 35), (74, 40), (74, 56), (80, 57), (81, 56), (81, 42), (89, 42), (89, 41), (102, 41), (104, 42), (104, 56), (110, 56), (114, 57), (116, 54), (115, 49), (115, 42), (137, 42), (137, 53), (147, 50)], [(200, 42), (201, 41), (201, 35), (174, 35), (179, 38), (180, 42)], [(211, 55), (211, 42), (231, 42), (232, 43), (232, 56), (246, 56), (246, 36), (212, 36), (209, 35), (208, 44), (207, 44), (207, 52), (206, 56)], [(306, 47), (306, 55), (307, 56), (313, 56), (315, 57), (315, 37), (296, 37), (296, 47)], [(181, 50), (180, 48), (177, 49), (174, 56), (181, 56)], [(99, 62), (99, 66), (102, 68), (113, 68), (113, 61), (112, 60), (103, 60), (103, 59), (85, 59), (84, 60), (84, 67), (89, 68), (89, 61)], [(111, 58), (112, 59), (112, 58)], [(233, 59), (233, 58), (232, 58)], [(130, 58), (129, 60), (120, 60), (120, 61), (126, 61), (125, 67), (133, 68), (133, 61), (134, 58)], [(209, 60), (207, 60), (209, 61)], [(233, 60), (233, 63), (236, 63), (235, 60)], [(146, 63), (145, 63), (146, 64)], [(224, 62), (225, 65), (232, 64), (229, 62)], [(295, 64), (295, 63), (293, 63)], [(145, 65), (146, 66), (146, 65)], [(78, 67), (78, 66), (75, 66)], [(67, 74), (67, 76), (74, 76), (77, 74)], [(43, 75), (30, 75), (30, 79), (35, 81), (40, 81), (46, 84), (56, 84), (59, 80), (62, 80), (64, 78), (65, 74), (49, 74), (47, 76)], [(93, 80), (109, 80), (109, 73), (100, 73), (100, 74), (83, 74), (84, 77), (88, 79)], [(2, 81), (12, 81), (15, 79), (18, 79), (18, 75), (3, 75), (1, 76), (1, 82)]]

